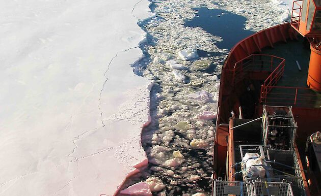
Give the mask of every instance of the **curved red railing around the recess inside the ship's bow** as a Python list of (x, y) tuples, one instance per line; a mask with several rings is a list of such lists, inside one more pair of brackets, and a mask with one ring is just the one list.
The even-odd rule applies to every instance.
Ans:
[(269, 54), (251, 54), (237, 61), (233, 70), (228, 71), (232, 77), (232, 85), (242, 81), (249, 72), (272, 72), (264, 84), (275, 85), (283, 75), (284, 65), (284, 58)]

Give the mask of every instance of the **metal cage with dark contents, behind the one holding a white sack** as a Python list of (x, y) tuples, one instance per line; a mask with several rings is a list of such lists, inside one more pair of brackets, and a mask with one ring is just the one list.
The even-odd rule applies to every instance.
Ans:
[(263, 145), (271, 145), (273, 149), (293, 150), (296, 132), (297, 123), (292, 107), (263, 106)]

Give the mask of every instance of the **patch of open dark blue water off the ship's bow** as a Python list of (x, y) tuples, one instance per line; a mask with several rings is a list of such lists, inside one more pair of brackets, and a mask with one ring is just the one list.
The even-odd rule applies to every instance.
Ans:
[(223, 42), (216, 45), (221, 49), (230, 50), (237, 42), (254, 34), (245, 30), (246, 18), (226, 10), (196, 8), (197, 14), (192, 20), (186, 21), (184, 26), (201, 27), (213, 36), (220, 36)]

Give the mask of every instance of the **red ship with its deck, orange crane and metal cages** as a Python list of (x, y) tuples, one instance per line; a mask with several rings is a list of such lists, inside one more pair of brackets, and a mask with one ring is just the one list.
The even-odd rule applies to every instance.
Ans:
[(321, 195), (321, 1), (292, 10), (224, 63), (213, 195)]

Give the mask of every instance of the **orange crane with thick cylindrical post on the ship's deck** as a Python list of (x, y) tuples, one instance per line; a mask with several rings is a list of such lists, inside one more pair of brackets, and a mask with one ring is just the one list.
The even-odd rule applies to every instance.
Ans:
[(321, 91), (321, 0), (293, 1), (291, 26), (310, 42), (307, 85)]

